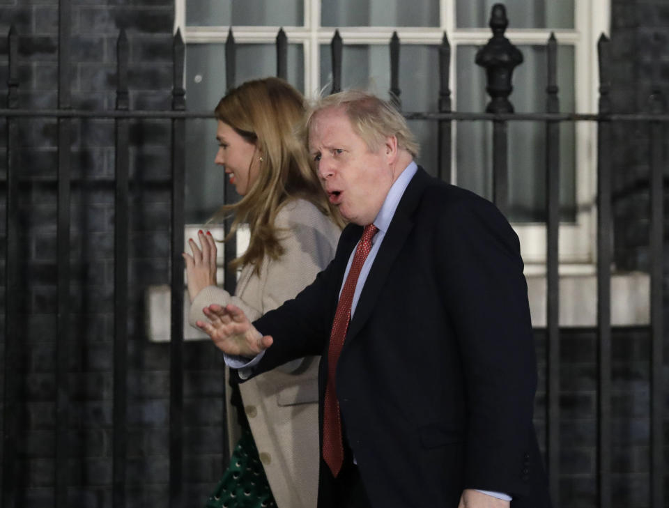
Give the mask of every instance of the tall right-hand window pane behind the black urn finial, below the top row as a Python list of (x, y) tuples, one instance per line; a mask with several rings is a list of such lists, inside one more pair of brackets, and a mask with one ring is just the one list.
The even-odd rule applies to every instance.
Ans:
[[(460, 46), (457, 53), (458, 111), (484, 111), (485, 72), (474, 63), (477, 47)], [(525, 61), (514, 71), (510, 100), (518, 112), (545, 111), (546, 47), (521, 47)], [(574, 48), (557, 51), (560, 111), (574, 111)], [(478, 148), (478, 149), (475, 149)], [(457, 182), (461, 187), (492, 196), (492, 128), (489, 123), (457, 125)], [(576, 218), (574, 124), (560, 125), (561, 220)], [(509, 122), (509, 220), (544, 222), (546, 219), (546, 128), (543, 123)]]

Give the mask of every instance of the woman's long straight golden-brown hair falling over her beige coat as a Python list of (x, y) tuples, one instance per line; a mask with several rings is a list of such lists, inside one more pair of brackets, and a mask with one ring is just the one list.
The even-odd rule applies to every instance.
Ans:
[(309, 164), (299, 136), (305, 114), (305, 100), (300, 92), (276, 77), (248, 81), (229, 91), (214, 114), (241, 137), (256, 144), (261, 157), (258, 177), (247, 194), (237, 203), (222, 206), (214, 216), (220, 219), (234, 213), (226, 240), (240, 223), (249, 224), (249, 247), (231, 261), (233, 268), (252, 264), (259, 272), (266, 256), (278, 259), (284, 253), (275, 219), (279, 208), (290, 199), (306, 199), (333, 222), (343, 225)]

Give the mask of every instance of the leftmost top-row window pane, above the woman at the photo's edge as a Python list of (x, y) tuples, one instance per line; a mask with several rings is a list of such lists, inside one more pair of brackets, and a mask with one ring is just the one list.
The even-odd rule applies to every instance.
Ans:
[(302, 0), (184, 0), (188, 26), (302, 26)]

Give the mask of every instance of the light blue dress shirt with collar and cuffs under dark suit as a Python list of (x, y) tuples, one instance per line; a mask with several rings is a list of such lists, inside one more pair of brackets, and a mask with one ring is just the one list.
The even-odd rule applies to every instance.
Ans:
[[(374, 219), (374, 226), (378, 229), (376, 234), (371, 238), (371, 250), (367, 254), (367, 259), (364, 260), (362, 269), (360, 270), (360, 275), (357, 277), (357, 283), (355, 284), (355, 291), (353, 292), (353, 301), (351, 302), (351, 319), (353, 319), (353, 314), (355, 313), (355, 307), (357, 307), (357, 300), (360, 300), (360, 293), (362, 293), (362, 288), (364, 283), (367, 281), (367, 276), (369, 275), (369, 270), (371, 270), (371, 265), (374, 264), (374, 259), (376, 259), (376, 254), (378, 254), (378, 249), (383, 243), (383, 238), (385, 238), (385, 233), (390, 227), (390, 222), (392, 222), (392, 217), (395, 215), (395, 210), (397, 210), (397, 205), (399, 205), (400, 199), (406, 191), (406, 187), (409, 185), (411, 178), (416, 174), (418, 166), (415, 162), (410, 162), (410, 164), (401, 172), (397, 177), (397, 180), (390, 187), (381, 209)], [(348, 272), (351, 270), (351, 263), (353, 263), (353, 256), (355, 256), (355, 249), (351, 252), (351, 256), (348, 258), (348, 264), (346, 265), (346, 272), (344, 272), (344, 279), (341, 281), (341, 288), (339, 288), (339, 295), (341, 296), (341, 290), (344, 288), (344, 282), (346, 282), (346, 277), (348, 277)], [(259, 353), (253, 360), (249, 361), (246, 357), (240, 356), (231, 356), (224, 355), (225, 362), (232, 369), (239, 369), (239, 376), (242, 379), (249, 378), (252, 374), (252, 370), (255, 364), (257, 364), (265, 352)], [(355, 462), (355, 459), (353, 459)], [(494, 498), (499, 498), (503, 500), (510, 501), (512, 498), (509, 495), (491, 492), (491, 491), (482, 491), (476, 489), (479, 492), (484, 494), (492, 495)]]

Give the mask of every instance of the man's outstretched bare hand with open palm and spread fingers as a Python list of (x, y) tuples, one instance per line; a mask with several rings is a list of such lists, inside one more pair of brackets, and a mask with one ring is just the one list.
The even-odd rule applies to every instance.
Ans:
[(269, 335), (263, 337), (239, 307), (213, 304), (202, 311), (210, 323), (197, 321), (197, 328), (206, 332), (217, 348), (228, 355), (252, 358), (274, 342)]

